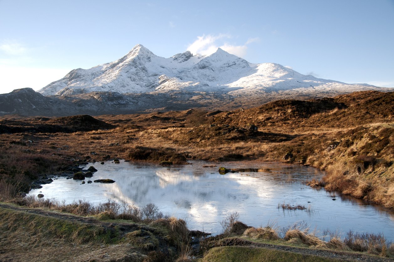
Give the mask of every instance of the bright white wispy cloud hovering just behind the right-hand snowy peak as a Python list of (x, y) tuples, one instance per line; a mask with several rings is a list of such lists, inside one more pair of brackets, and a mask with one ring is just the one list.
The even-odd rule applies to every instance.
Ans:
[(187, 50), (193, 54), (210, 55), (216, 52), (217, 48), (220, 47), (230, 54), (243, 57), (246, 55), (247, 45), (260, 40), (258, 37), (249, 38), (243, 45), (232, 45), (226, 42), (226, 40), (230, 38), (232, 38), (232, 36), (229, 34), (197, 36), (197, 40), (189, 45)]

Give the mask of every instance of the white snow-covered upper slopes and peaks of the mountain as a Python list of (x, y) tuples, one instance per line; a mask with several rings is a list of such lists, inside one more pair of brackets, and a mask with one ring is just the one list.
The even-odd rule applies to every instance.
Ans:
[(119, 60), (90, 69), (74, 69), (38, 92), (43, 95), (75, 95), (89, 92), (125, 94), (187, 90), (230, 92), (238, 96), (294, 89), (306, 92), (316, 88), (352, 92), (372, 87), (318, 79), (279, 64), (250, 64), (220, 48), (210, 56), (192, 55), (186, 51), (163, 58), (142, 45), (136, 45)]

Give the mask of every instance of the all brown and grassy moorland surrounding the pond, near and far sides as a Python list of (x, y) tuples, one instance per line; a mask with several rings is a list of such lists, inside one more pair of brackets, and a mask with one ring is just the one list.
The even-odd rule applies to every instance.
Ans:
[[(154, 205), (140, 209), (113, 202), (99, 207), (87, 202), (66, 205), (24, 193), (50, 174), (87, 162), (117, 158), (177, 165), (188, 159), (243, 159), (326, 170), (322, 180), (308, 184), (392, 209), (393, 111), (394, 92), (365, 91), (231, 111), (3, 116), (0, 260), (55, 257), (45, 250), (56, 250), (58, 260), (85, 261), (188, 261), (193, 256), (223, 261), (236, 260), (240, 253), (245, 261), (263, 261), (267, 254), (283, 261), (385, 260), (394, 255), (394, 245), (382, 236), (350, 234), (341, 240), (332, 234), (325, 241), (289, 227), (280, 237), (270, 226), (251, 228), (232, 214), (223, 223), (223, 234), (204, 238), (203, 232), (188, 230), (181, 219), (160, 215)], [(191, 243), (196, 238), (201, 240), (198, 250)]]

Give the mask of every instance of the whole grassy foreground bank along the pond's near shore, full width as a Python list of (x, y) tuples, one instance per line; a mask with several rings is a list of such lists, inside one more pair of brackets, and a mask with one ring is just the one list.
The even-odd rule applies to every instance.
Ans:
[(203, 238), (152, 205), (119, 211), (107, 202), (79, 216), (60, 209), (76, 213), (87, 202), (49, 203), (31, 199), (28, 206), (41, 208), (29, 208), (0, 202), (0, 261), (390, 261), (394, 255), (383, 236), (325, 241), (295, 225), (280, 237), (270, 226), (253, 228), (232, 215), (223, 234)]

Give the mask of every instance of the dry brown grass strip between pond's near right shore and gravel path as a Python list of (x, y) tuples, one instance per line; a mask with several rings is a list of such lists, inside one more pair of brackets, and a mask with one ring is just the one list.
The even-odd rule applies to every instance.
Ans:
[[(235, 217), (237, 214), (232, 213), (224, 221), (232, 221)], [(240, 221), (234, 221), (228, 225), (228, 228), (229, 230), (225, 230), (223, 234), (204, 240), (202, 247), (208, 247), (206, 249), (223, 246), (266, 247), (267, 245), (263, 243), (268, 241), (270, 246), (272, 244), (301, 246), (313, 249), (364, 252), (383, 257), (394, 256), (392, 243), (387, 243), (382, 234), (359, 234), (349, 231), (342, 240), (337, 233), (328, 230), (326, 234), (329, 235), (329, 240), (325, 241), (325, 237), (322, 239), (317, 237), (315, 232), (309, 232), (309, 228), (303, 223), (282, 228), (282, 237), (270, 225), (254, 228)], [(236, 230), (231, 230), (231, 228), (236, 228)]]

